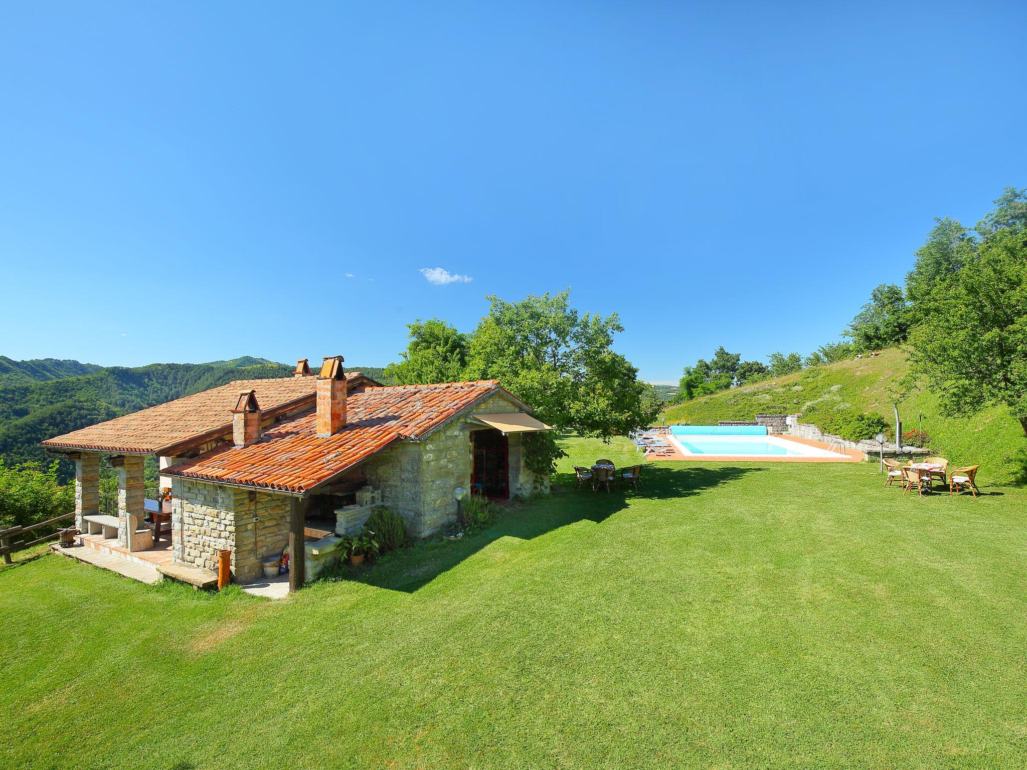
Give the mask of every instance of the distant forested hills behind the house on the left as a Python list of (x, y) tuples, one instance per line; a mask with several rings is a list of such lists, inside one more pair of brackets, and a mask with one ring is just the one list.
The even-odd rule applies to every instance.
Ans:
[[(0, 357), (0, 459), (8, 464), (47, 464), (53, 456), (38, 446), (44, 438), (233, 380), (289, 377), (294, 365), (251, 356), (210, 363), (151, 363), (134, 369), (51, 358), (13, 361)], [(360, 371), (376, 379), (382, 372), (379, 367)], [(70, 473), (70, 465), (63, 468), (63, 477)]]

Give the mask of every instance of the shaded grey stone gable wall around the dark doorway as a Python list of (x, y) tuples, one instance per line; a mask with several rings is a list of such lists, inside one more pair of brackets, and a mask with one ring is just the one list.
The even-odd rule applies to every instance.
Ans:
[[(494, 395), (474, 407), (471, 413), (518, 411), (520, 408), (506, 397)], [(470, 433), (481, 429), (480, 423), (465, 415), (432, 431), (421, 441), (406, 441), (385, 450), (364, 465), (368, 484), (381, 490), (385, 505), (404, 515), (412, 537), (427, 537), (456, 521), (453, 489), (470, 489)], [(548, 477), (536, 479), (524, 467), (522, 434), (509, 434), (508, 444), (510, 495), (548, 492)]]

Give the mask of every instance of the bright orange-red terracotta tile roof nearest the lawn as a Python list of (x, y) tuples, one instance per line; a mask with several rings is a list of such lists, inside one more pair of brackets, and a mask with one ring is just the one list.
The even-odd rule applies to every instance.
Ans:
[(496, 392), (520, 403), (495, 380), (369, 388), (347, 398), (347, 424), (335, 435), (317, 437), (311, 410), (268, 428), (250, 447), (213, 450), (162, 472), (306, 492), (394, 441), (424, 435)]

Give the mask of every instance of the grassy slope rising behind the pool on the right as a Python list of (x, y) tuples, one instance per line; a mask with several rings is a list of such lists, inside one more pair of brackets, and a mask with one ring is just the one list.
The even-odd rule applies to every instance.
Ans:
[[(792, 413), (808, 409), (812, 401), (848, 403), (864, 412), (879, 412), (895, 419), (888, 402), (888, 381), (909, 371), (905, 354), (885, 350), (876, 358), (842, 361), (807, 369), (799, 374), (731, 388), (669, 409), (670, 422), (695, 425), (717, 420), (751, 420), (761, 412)], [(938, 398), (926, 391), (914, 393), (899, 406), (905, 430), (917, 426), (923, 414), (923, 429), (931, 448), (960, 465), (980, 464), (990, 482), (1009, 484), (1023, 474), (1023, 448), (1027, 446), (1019, 423), (1005, 408), (985, 410), (966, 418), (941, 414)]]

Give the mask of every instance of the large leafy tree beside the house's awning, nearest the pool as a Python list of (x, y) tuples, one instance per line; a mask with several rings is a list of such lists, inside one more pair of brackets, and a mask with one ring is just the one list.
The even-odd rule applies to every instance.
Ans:
[(638, 370), (612, 349), (616, 313), (579, 313), (570, 290), (491, 306), (470, 336), (468, 377), (496, 379), (558, 430), (608, 437), (648, 425), (659, 411)]

